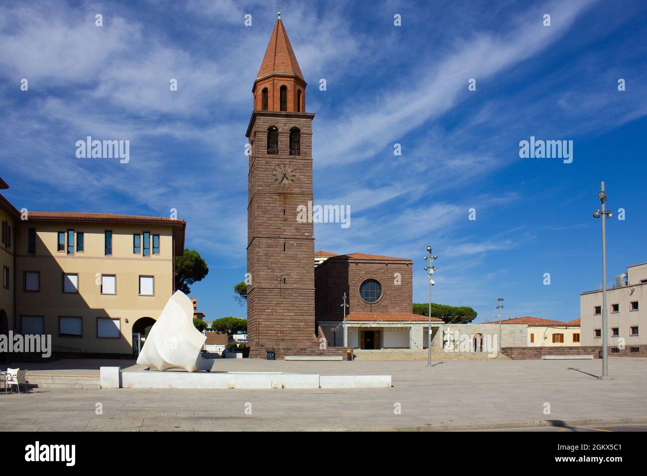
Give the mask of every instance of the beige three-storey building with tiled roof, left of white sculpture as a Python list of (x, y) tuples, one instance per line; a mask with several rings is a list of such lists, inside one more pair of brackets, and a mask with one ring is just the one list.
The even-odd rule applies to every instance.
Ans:
[(50, 334), (54, 350), (132, 354), (133, 334), (159, 317), (174, 292), (184, 220), (21, 214), (1, 195), (0, 214), (7, 278), (0, 330)]

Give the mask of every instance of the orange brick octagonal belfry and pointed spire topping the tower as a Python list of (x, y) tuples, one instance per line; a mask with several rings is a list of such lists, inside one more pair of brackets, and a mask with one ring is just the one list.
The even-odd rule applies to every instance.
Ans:
[(306, 85), (279, 14), (252, 87), (254, 110), (305, 112)]

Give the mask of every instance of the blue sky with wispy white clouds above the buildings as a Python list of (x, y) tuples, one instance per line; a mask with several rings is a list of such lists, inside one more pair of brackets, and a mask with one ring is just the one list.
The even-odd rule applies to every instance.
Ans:
[[(245, 130), (274, 4), (3, 2), (6, 197), (29, 210), (176, 208), (186, 246), (210, 268), (192, 287), (200, 310), (244, 317), (232, 287), (245, 275)], [(414, 301), (425, 302), (431, 244), (435, 302), (472, 306), (483, 321), (500, 293), (504, 317), (567, 321), (579, 293), (602, 282), (591, 213), (604, 180), (608, 206), (626, 210), (608, 223), (608, 280), (647, 261), (644, 3), (280, 5), (317, 114), (315, 201), (351, 206), (349, 228), (315, 225), (316, 249), (411, 258)], [(77, 159), (87, 135), (128, 139), (130, 162)], [(531, 135), (572, 140), (573, 163), (521, 159)]]

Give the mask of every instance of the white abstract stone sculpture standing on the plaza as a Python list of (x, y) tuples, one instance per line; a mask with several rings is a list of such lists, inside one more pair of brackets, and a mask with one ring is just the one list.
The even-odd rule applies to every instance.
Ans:
[(211, 370), (213, 361), (200, 355), (205, 340), (193, 326), (193, 302), (182, 291), (175, 291), (151, 327), (137, 363), (157, 370)]

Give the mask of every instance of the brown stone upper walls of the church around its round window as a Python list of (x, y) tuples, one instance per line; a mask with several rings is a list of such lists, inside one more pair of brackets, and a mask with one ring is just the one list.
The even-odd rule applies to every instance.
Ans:
[[(413, 262), (386, 257), (355, 259), (346, 255), (328, 258), (314, 269), (316, 318), (341, 320), (344, 293), (351, 312), (411, 313), (413, 302)], [(367, 279), (380, 283), (382, 295), (375, 303), (360, 296), (360, 285)], [(399, 283), (399, 284), (397, 284)]]

